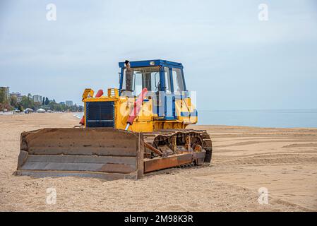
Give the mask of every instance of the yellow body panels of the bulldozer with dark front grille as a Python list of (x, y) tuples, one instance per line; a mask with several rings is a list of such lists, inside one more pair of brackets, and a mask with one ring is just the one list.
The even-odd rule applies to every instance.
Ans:
[[(117, 89), (108, 89), (107, 95), (101, 97), (92, 97), (93, 90), (85, 89), (83, 93), (83, 102), (85, 106), (84, 117), (85, 127), (114, 127), (116, 129), (125, 129), (128, 116), (133, 109), (135, 97), (119, 96)], [(91, 104), (97, 106), (96, 102), (111, 102), (112, 109), (109, 110), (109, 114), (102, 115), (102, 108), (92, 108)], [(101, 106), (101, 105), (100, 105)], [(88, 113), (89, 112), (89, 113)], [(154, 111), (155, 112), (155, 111)], [(143, 101), (143, 105), (133, 124), (129, 126), (129, 131), (135, 132), (152, 132), (159, 131), (160, 129), (185, 129), (189, 124), (196, 124), (197, 114), (196, 109), (191, 105), (191, 99), (186, 98), (184, 100), (175, 101), (175, 114), (176, 119), (166, 120), (164, 117), (158, 117), (153, 113), (153, 100), (151, 97), (146, 97)], [(89, 115), (87, 115), (89, 114)], [(89, 119), (90, 115), (99, 115), (97, 119)], [(105, 120), (107, 119), (107, 120)], [(93, 124), (92, 122), (100, 121), (100, 124)], [(107, 121), (109, 124), (107, 124)], [(104, 123), (104, 124), (102, 124)]]

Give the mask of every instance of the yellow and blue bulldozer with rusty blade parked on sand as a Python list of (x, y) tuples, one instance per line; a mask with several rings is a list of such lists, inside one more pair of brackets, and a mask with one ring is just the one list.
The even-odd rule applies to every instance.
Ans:
[(160, 169), (210, 165), (205, 130), (186, 129), (198, 112), (181, 63), (119, 62), (119, 88), (86, 88), (80, 126), (26, 131), (14, 174), (138, 179)]

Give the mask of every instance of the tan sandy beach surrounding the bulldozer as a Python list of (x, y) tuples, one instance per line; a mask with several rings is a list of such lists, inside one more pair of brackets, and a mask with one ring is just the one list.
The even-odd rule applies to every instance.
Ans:
[[(0, 116), (1, 211), (317, 210), (317, 129), (191, 126), (212, 136), (213, 164), (137, 181), (12, 175), (22, 131), (76, 124), (71, 113)], [(56, 203), (47, 203), (49, 188)], [(268, 203), (258, 202), (260, 188)]]

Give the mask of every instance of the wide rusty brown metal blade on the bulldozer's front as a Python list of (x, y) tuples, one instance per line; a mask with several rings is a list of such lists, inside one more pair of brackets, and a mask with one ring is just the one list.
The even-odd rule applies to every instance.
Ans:
[(142, 133), (112, 128), (23, 132), (16, 175), (138, 179), (143, 175)]

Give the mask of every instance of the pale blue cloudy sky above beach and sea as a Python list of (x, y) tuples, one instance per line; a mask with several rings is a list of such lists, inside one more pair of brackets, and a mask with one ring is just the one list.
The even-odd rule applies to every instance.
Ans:
[(125, 59), (181, 62), (198, 109), (316, 109), (317, 2), (0, 1), (11, 92), (81, 104), (85, 88), (119, 86)]

